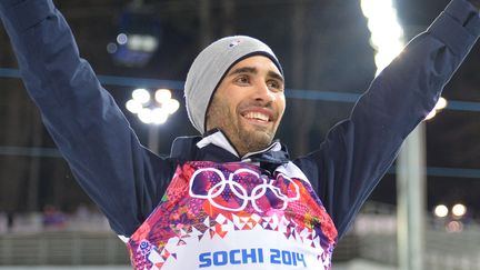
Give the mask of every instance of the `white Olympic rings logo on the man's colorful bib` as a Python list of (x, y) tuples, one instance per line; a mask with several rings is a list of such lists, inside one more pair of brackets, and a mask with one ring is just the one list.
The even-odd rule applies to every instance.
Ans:
[[(199, 193), (194, 191), (193, 184), (196, 182), (197, 177), (200, 173), (213, 173), (213, 176), (208, 177), (208, 179), (211, 179), (213, 177), (218, 177), (220, 181), (218, 181), (216, 184), (211, 186), (206, 193)], [(256, 184), (253, 189), (249, 192), (241, 183), (238, 181), (234, 181), (234, 179), (241, 179), (241, 173), (248, 173), (250, 177), (254, 177), (256, 179), (261, 179), (262, 183)], [(293, 187), (293, 197), (289, 197), (288, 194), (284, 194), (282, 190), (279, 187), (276, 187), (274, 183), (278, 182), (280, 178), (283, 178), (284, 181), (288, 181), (289, 184), (292, 184)], [(222, 197), (223, 193), (227, 191), (227, 188), (230, 190), (230, 194), (234, 194), (238, 199), (242, 201), (242, 203), (239, 207), (230, 207), (230, 206), (222, 206), (219, 204), (216, 201), (216, 198)], [(234, 171), (233, 173), (230, 173), (228, 179), (226, 179), (224, 174), (216, 168), (204, 168), (199, 169), (194, 171), (194, 173), (190, 178), (189, 183), (189, 194), (192, 198), (209, 200), (209, 202), (219, 209), (228, 210), (228, 211), (242, 211), (247, 208), (248, 203), (250, 202), (253, 209), (258, 212), (262, 212), (260, 207), (258, 206), (258, 200), (261, 199), (267, 194), (267, 192), (270, 191), (277, 199), (281, 201), (281, 207), (278, 208), (277, 206), (273, 206), (277, 209), (284, 210), (287, 209), (287, 206), (291, 201), (296, 201), (300, 199), (300, 188), (299, 186), (292, 181), (290, 178), (284, 176), (283, 173), (279, 173), (277, 176), (277, 179), (269, 179), (267, 176), (260, 176), (259, 173), (249, 170), (249, 169), (239, 169)]]

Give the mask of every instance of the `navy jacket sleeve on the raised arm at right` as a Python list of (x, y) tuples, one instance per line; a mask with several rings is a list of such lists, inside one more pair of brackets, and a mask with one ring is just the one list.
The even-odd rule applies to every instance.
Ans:
[(339, 237), (393, 162), (402, 141), (433, 109), (479, 33), (478, 11), (464, 0), (453, 0), (373, 80), (350, 118), (328, 132), (320, 149), (296, 160), (317, 181)]

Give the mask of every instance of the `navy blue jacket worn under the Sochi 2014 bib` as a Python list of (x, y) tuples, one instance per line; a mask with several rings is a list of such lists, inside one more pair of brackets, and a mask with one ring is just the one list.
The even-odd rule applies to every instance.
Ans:
[[(143, 222), (178, 163), (240, 160), (216, 146), (197, 148), (199, 138), (177, 139), (169, 157), (151, 153), (79, 57), (51, 0), (1, 0), (0, 14), (46, 127), (117, 233), (131, 236)], [(479, 34), (478, 10), (453, 0), (373, 80), (350, 118), (334, 126), (318, 150), (292, 160), (314, 186), (340, 237)], [(286, 162), (288, 153), (267, 151), (251, 159), (268, 168)]]

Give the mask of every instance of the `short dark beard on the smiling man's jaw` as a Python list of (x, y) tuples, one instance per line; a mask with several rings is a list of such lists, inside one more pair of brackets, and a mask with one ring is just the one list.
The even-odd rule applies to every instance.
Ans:
[[(266, 107), (271, 104), (259, 104), (258, 102), (241, 103), (239, 108)], [(277, 127), (260, 127), (248, 124), (242, 117), (228, 108), (226, 102), (213, 98), (207, 113), (208, 128), (220, 129), (236, 148), (240, 157), (249, 152), (257, 152), (269, 147), (273, 140)]]

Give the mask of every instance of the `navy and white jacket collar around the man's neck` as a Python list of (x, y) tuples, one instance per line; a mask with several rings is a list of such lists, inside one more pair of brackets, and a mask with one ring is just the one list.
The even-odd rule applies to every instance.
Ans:
[(180, 160), (209, 160), (214, 162), (268, 162), (283, 164), (289, 161), (287, 148), (279, 140), (273, 141), (268, 148), (247, 153), (240, 158), (237, 150), (221, 130), (212, 130), (203, 138), (180, 137), (173, 141), (171, 158)]

